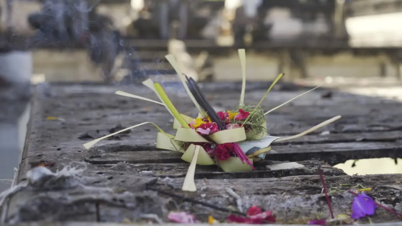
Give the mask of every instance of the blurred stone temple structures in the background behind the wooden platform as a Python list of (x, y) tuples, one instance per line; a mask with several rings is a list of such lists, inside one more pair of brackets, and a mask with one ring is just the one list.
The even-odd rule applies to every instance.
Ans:
[[(334, 85), (402, 79), (402, 0), (2, 0), (0, 7), (0, 179), (12, 179), (21, 158), (31, 83), (174, 81), (167, 53), (198, 81), (240, 80), (238, 48), (246, 48), (248, 80), (279, 72), (289, 82)], [(361, 172), (340, 167), (372, 173), (370, 164), (360, 160)], [(376, 164), (402, 173), (388, 159)]]

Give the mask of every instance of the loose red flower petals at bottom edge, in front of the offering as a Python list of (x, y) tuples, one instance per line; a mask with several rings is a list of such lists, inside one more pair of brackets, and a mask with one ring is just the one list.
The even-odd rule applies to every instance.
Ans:
[(236, 223), (246, 224), (263, 224), (264, 222), (276, 222), (275, 215), (271, 210), (263, 211), (257, 206), (252, 206), (247, 211), (247, 217), (241, 217), (236, 215), (230, 215), (227, 220)]

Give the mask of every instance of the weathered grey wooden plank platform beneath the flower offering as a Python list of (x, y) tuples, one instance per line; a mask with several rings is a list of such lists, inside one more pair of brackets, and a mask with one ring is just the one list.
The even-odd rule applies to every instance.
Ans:
[[(222, 93), (222, 88), (229, 86), (235, 87), (234, 84), (204, 84), (203, 89), (208, 91), (211, 105), (230, 109), (238, 103), (240, 94), (235, 88)], [(267, 87), (254, 84), (258, 86), (259, 89), (247, 90), (246, 103), (258, 103), (269, 84)], [(324, 169), (327, 187), (334, 191), (331, 196), (335, 214), (349, 213), (353, 195), (347, 189), (357, 184), (372, 187), (369, 194), (377, 201), (400, 208), (397, 204), (402, 187), (397, 183), (401, 175), (349, 176), (329, 164), (348, 159), (402, 157), (402, 118), (398, 117), (402, 103), (340, 91), (332, 91), (331, 99), (321, 99), (322, 90), (312, 92), (309, 98), (301, 98), (269, 114), (268, 133), (289, 136), (334, 115), (343, 118), (308, 136), (278, 142), (266, 160), (256, 164), (256, 171), (225, 173), (216, 166), (197, 166), (198, 191), (187, 193), (180, 187), (189, 164), (177, 153), (154, 148), (157, 131), (152, 126), (113, 136), (90, 150), (82, 147), (91, 137), (107, 133), (117, 125), (128, 127), (152, 121), (166, 132), (173, 132), (172, 125), (166, 125), (170, 115), (163, 106), (115, 95), (119, 89), (155, 99), (151, 91), (142, 87), (54, 85), (47, 90), (48, 95), (39, 95), (37, 90), (18, 181), (24, 181), (27, 171), (39, 163), (54, 163), (54, 166), (49, 164), (52, 171), (72, 164), (85, 169), (75, 178), (79, 186), (57, 191), (39, 187), (18, 193), (3, 212), (6, 223), (123, 222), (127, 219), (143, 222), (146, 221), (144, 214), (155, 214), (166, 220), (168, 211), (187, 211), (202, 222), (207, 221), (208, 215), (224, 220), (229, 213), (204, 204), (238, 208), (236, 200), (226, 192), (230, 188), (242, 198), (243, 210), (256, 204), (273, 210), (279, 223), (302, 224), (319, 213), (329, 213), (317, 175), (320, 167)], [(276, 107), (301, 92), (300, 89), (273, 91), (263, 107)], [(179, 111), (196, 114), (190, 99), (179, 97), (172, 89), (168, 95)], [(49, 121), (48, 116), (63, 120)], [(85, 133), (90, 137), (82, 136)], [(303, 167), (269, 168), (286, 161), (298, 162)], [(378, 210), (372, 220), (396, 222), (398, 218)]]

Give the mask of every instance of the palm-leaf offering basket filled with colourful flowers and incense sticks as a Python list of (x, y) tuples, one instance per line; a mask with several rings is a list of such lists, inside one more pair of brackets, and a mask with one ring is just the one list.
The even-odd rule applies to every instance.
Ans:
[(244, 105), (244, 91), (246, 87), (246, 55), (244, 49), (239, 49), (238, 52), (242, 66), (242, 91), (239, 105), (234, 106), (232, 111), (215, 112), (213, 107), (209, 105), (208, 101), (202, 94), (197, 83), (192, 78), (187, 78), (187, 76), (180, 71), (180, 68), (172, 55), (166, 55), (166, 59), (173, 66), (174, 70), (176, 70), (178, 77), (183, 82), (187, 94), (193, 101), (195, 107), (199, 110), (198, 117), (193, 119), (190, 116), (180, 114), (164, 92), (162, 86), (159, 83), (154, 83), (152, 80), (148, 79), (144, 81), (143, 84), (155, 92), (160, 102), (122, 91), (117, 91), (116, 94), (142, 99), (165, 106), (167, 111), (174, 117), (173, 128), (176, 129), (176, 134), (167, 134), (158, 127), (158, 125), (152, 122), (144, 122), (88, 142), (84, 144), (84, 147), (89, 149), (96, 144), (96, 142), (104, 138), (134, 127), (151, 123), (159, 130), (156, 136), (156, 148), (181, 152), (183, 153), (181, 158), (186, 162), (190, 162), (189, 170), (185, 177), (182, 189), (185, 191), (196, 191), (197, 188), (194, 183), (196, 165), (215, 164), (225, 172), (252, 171), (255, 169), (253, 162), (265, 158), (267, 152), (271, 150), (271, 144), (273, 142), (304, 136), (340, 118), (338, 115), (295, 136), (286, 138), (268, 136), (265, 115), (279, 107), (282, 107), (290, 101), (293, 101), (297, 97), (318, 88), (319, 86), (304, 92), (270, 111), (264, 112), (260, 107), (260, 104), (263, 102), (264, 98), (275, 83), (283, 76), (283, 74), (280, 74), (271, 84), (257, 106), (246, 106)]

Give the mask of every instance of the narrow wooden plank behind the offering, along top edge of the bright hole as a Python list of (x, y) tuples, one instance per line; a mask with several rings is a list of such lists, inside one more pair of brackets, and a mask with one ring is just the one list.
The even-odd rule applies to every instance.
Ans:
[[(100, 147), (101, 149), (101, 147)], [(303, 161), (320, 159), (330, 164), (358, 158), (401, 158), (399, 142), (345, 142), (329, 144), (295, 144), (275, 146), (266, 159), (276, 161)], [(88, 158), (91, 164), (174, 163), (183, 162), (180, 152), (147, 150), (104, 153)]]

